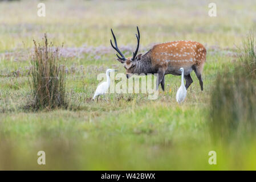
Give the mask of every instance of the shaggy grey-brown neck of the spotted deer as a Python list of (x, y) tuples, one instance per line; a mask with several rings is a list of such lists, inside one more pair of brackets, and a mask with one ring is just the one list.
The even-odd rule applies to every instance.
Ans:
[(135, 73), (137, 74), (147, 74), (152, 73), (151, 67), (151, 50), (149, 50), (145, 55), (141, 56), (141, 59), (136, 62)]

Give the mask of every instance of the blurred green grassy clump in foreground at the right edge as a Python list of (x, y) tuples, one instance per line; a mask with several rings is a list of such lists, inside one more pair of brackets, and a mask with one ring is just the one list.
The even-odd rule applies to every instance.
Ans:
[(254, 37), (249, 35), (238, 50), (234, 69), (219, 73), (210, 104), (210, 131), (214, 139), (250, 137), (256, 130)]

